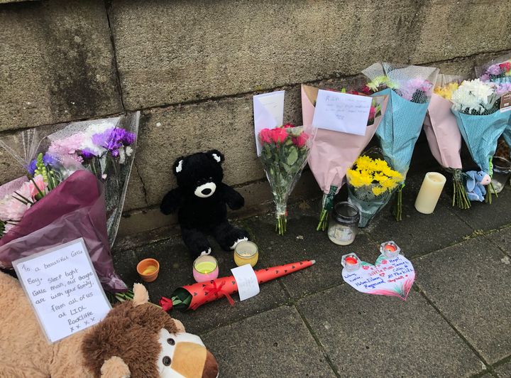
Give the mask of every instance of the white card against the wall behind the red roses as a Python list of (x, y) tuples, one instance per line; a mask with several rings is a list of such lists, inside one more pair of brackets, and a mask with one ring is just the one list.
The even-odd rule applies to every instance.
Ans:
[(255, 147), (260, 156), (259, 132), (262, 129), (273, 129), (281, 126), (284, 121), (284, 94), (278, 90), (253, 97)]

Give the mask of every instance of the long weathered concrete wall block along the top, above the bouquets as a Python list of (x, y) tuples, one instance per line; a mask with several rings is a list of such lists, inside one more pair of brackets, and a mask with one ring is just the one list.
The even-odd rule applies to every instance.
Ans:
[(377, 60), (426, 63), (506, 50), (510, 38), (495, 38), (511, 33), (501, 7), (114, 0), (110, 14), (125, 104), (135, 109), (355, 75)]

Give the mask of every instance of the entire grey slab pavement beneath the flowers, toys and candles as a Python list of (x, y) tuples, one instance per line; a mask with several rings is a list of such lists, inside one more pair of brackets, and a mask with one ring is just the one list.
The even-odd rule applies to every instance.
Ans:
[[(444, 190), (434, 214), (422, 215), (413, 204), (423, 177), (407, 179), (402, 222), (389, 205), (347, 247), (315, 230), (319, 199), (290, 206), (283, 237), (273, 214), (234, 221), (258, 244), (256, 269), (317, 264), (246, 301), (233, 296), (233, 307), (223, 298), (171, 315), (202, 337), (221, 377), (511, 377), (511, 188), (468, 211), (451, 207)], [(341, 276), (343, 254), (373, 262), (388, 240), (416, 271), (407, 301), (359, 293)], [(220, 276), (230, 275), (232, 253), (214, 246)], [(116, 250), (126, 284), (139, 281), (136, 264), (146, 257), (160, 261), (158, 279), (146, 284), (152, 301), (194, 282), (192, 257), (170, 237)]]

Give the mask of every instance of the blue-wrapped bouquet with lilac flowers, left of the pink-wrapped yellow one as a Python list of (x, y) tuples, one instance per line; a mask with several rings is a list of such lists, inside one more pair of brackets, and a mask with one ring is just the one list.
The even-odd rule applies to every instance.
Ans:
[[(388, 110), (376, 130), (385, 159), (406, 178), (415, 142), (419, 138), (438, 68), (375, 63), (363, 70), (373, 95), (390, 97)], [(402, 220), (402, 188), (397, 189), (394, 210)]]

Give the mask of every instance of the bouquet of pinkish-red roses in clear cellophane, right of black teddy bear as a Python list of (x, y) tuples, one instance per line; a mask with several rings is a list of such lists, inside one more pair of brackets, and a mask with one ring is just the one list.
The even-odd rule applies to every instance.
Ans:
[(287, 198), (302, 175), (314, 139), (314, 129), (310, 129), (312, 132), (306, 132), (303, 126), (285, 124), (263, 129), (258, 135), (260, 158), (275, 202), (275, 231), (280, 235), (285, 234), (287, 227)]

